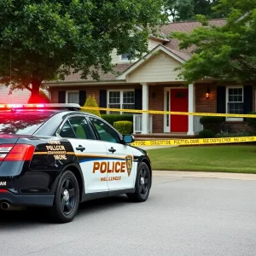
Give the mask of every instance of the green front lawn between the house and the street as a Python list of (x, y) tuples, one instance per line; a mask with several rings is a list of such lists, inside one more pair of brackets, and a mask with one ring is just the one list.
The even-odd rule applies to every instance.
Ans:
[(153, 170), (256, 173), (256, 146), (178, 147), (148, 150)]

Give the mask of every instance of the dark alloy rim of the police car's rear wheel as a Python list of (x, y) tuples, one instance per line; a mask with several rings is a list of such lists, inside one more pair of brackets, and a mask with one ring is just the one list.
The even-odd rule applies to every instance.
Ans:
[(75, 187), (71, 179), (67, 178), (61, 186), (61, 212), (70, 215), (76, 205)]

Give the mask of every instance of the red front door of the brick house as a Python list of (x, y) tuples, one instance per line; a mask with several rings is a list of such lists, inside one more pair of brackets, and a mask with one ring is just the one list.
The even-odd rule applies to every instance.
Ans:
[[(172, 89), (171, 90), (171, 111), (188, 112), (189, 111), (189, 90)], [(189, 116), (188, 115), (171, 115), (171, 132), (188, 132)]]

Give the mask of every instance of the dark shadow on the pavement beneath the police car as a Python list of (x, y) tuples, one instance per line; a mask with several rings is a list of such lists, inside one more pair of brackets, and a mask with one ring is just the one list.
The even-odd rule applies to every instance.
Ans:
[[(121, 207), (129, 201), (125, 195), (86, 201), (79, 206), (79, 212), (76, 218), (90, 214), (92, 212), (101, 212), (107, 208)], [(0, 211), (0, 230), (3, 228), (17, 228), (19, 226), (32, 224), (52, 224), (47, 218), (44, 208), (28, 208), (22, 211)]]

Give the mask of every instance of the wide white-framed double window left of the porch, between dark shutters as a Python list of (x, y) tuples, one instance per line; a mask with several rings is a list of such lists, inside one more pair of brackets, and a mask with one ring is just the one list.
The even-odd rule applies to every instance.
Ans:
[[(109, 90), (108, 91), (108, 108), (135, 108), (134, 90)], [(110, 111), (110, 113), (119, 113)], [(121, 112), (127, 113), (127, 112)]]

